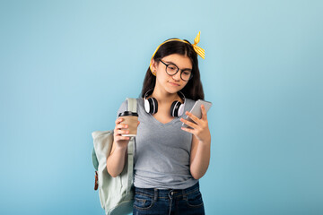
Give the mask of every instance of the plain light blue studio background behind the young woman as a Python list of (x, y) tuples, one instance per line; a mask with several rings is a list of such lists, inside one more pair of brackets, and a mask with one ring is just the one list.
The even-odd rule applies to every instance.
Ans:
[(138, 97), (154, 49), (199, 57), (206, 214), (323, 214), (323, 3), (0, 2), (0, 214), (103, 214), (92, 136)]

